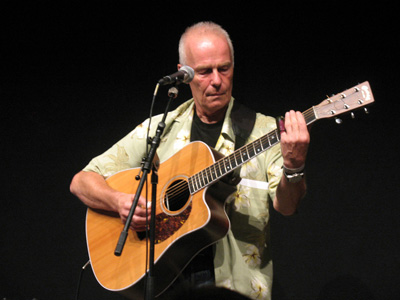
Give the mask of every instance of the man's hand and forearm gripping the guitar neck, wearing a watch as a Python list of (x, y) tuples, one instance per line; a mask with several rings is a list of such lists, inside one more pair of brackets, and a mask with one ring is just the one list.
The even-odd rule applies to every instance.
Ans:
[[(281, 132), (283, 165), (289, 169), (299, 169), (305, 165), (310, 135), (301, 112), (290, 111), (285, 115), (285, 131)], [(305, 178), (299, 182), (289, 182), (285, 176), (276, 190), (274, 208), (283, 215), (296, 212), (300, 200), (307, 191)]]

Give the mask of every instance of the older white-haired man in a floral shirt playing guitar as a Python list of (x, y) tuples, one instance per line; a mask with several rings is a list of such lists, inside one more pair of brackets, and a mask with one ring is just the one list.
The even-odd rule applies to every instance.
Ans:
[[(169, 113), (158, 156), (164, 161), (193, 140), (202, 140), (224, 155), (234, 150), (236, 137), (230, 114), (232, 98), (234, 53), (228, 34), (220, 26), (202, 22), (186, 30), (179, 44), (180, 63), (194, 69), (190, 82), (193, 99)], [(155, 117), (152, 124), (160, 118)], [(199, 255), (200, 263), (211, 261), (211, 267), (186, 272), (202, 274), (194, 283), (215, 282), (253, 299), (270, 299), (272, 288), (272, 259), (269, 240), (269, 199), (283, 215), (293, 214), (305, 195), (304, 165), (309, 133), (303, 115), (290, 111), (285, 114), (285, 130), (280, 145), (245, 163), (240, 170), (241, 182), (235, 196), (227, 201), (231, 221), (227, 236), (217, 242), (210, 252)], [(138, 167), (146, 149), (146, 120), (104, 154), (94, 158), (72, 180), (71, 192), (87, 206), (118, 212), (125, 223), (133, 195), (111, 189), (105, 178), (113, 173)], [(152, 126), (152, 132), (154, 132)], [(247, 143), (276, 128), (274, 118), (257, 114)], [(282, 172), (282, 167), (284, 172)], [(285, 176), (282, 176), (282, 173)], [(139, 200), (130, 224), (132, 230), (146, 227), (146, 199)], [(196, 261), (195, 258), (194, 261)], [(207, 264), (206, 264), (207, 265)], [(203, 271), (211, 268), (204, 276)], [(197, 280), (200, 278), (199, 280)]]

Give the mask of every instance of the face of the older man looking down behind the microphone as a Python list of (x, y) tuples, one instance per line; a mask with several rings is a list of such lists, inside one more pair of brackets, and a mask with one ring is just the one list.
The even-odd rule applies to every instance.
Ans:
[(199, 116), (225, 111), (232, 96), (233, 62), (225, 38), (192, 35), (186, 43), (187, 65), (195, 71), (190, 83)]

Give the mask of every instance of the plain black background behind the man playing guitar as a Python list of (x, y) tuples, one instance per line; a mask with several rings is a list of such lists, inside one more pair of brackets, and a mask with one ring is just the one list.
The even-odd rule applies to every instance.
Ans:
[[(235, 46), (234, 96), (264, 114), (365, 80), (376, 100), (314, 124), (308, 195), (293, 217), (272, 212), (274, 299), (397, 299), (395, 7), (214, 2), (1, 2), (1, 297), (75, 298), (88, 255), (70, 180), (148, 116), (180, 34), (212, 20)], [(173, 106), (189, 96), (182, 86)], [(122, 298), (88, 268), (80, 299)]]

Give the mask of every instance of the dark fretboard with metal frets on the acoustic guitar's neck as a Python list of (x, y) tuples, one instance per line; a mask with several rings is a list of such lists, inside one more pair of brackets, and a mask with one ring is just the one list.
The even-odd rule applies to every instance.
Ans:
[[(316, 120), (314, 109), (310, 108), (303, 112), (307, 125)], [(240, 167), (244, 163), (253, 159), (257, 155), (268, 150), (280, 142), (277, 129), (272, 130), (261, 138), (237, 149), (232, 154), (221, 158), (213, 165), (189, 177), (188, 184), (191, 194), (194, 194), (203, 188), (220, 180), (222, 177)]]

